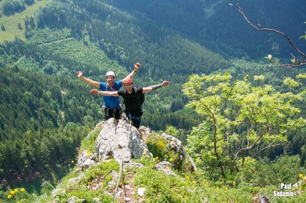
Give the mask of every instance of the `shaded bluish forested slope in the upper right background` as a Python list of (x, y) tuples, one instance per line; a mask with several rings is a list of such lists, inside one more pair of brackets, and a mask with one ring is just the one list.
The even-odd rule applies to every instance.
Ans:
[[(286, 57), (293, 50), (284, 37), (265, 31), (255, 32), (241, 14), (229, 6), (230, 3), (236, 6), (236, 0), (105, 2), (135, 13), (134, 16), (143, 14), (160, 26), (194, 37), (202, 45), (227, 57), (256, 59), (267, 53)], [(305, 1), (243, 0), (239, 3), (253, 24), (259, 22), (262, 28), (290, 33), (294, 43), (305, 47), (305, 40), (299, 39), (304, 32)]]

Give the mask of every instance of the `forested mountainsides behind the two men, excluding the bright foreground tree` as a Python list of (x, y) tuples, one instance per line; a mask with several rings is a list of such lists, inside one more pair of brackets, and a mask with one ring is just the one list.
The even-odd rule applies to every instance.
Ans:
[[(137, 86), (169, 80), (167, 89), (146, 94), (142, 125), (173, 132), (184, 144), (192, 127), (205, 117), (184, 107), (188, 98), (182, 95), (182, 84), (191, 74), (228, 72), (240, 80), (246, 74), (250, 78), (264, 75), (265, 84), (280, 92), (290, 91), (283, 79), (295, 78), (305, 69), (272, 66), (263, 58), (272, 53), (273, 46), (276, 50), (275, 43), (280, 48), (279, 54), (275, 53), (278, 57), (290, 57), (290, 45), (274, 34), (252, 30), (229, 2), (53, 0), (35, 10), (33, 16), (25, 17), (22, 27), (27, 40), (15, 37), (0, 45), (3, 184), (28, 176), (58, 180), (61, 176), (53, 172), (68, 169), (83, 137), (103, 119), (102, 97), (89, 93), (93, 87), (76, 77), (78, 70), (85, 77), (105, 82), (107, 71), (113, 70), (119, 80), (132, 71), (133, 63), (139, 62), (140, 70), (133, 78)], [(241, 6), (252, 20), (263, 17), (262, 26), (284, 29), (297, 39), (303, 34), (297, 22), (305, 19), (299, 9), (305, 5), (298, 1), (300, 6), (295, 8), (286, 3), (242, 1)], [(293, 7), (297, 9), (294, 13)], [(287, 20), (295, 23), (290, 27)], [(301, 44), (297, 45), (303, 47), (305, 40), (298, 40)], [(257, 57), (262, 61), (250, 61)], [(301, 86), (295, 92), (303, 90)], [(304, 116), (304, 101), (293, 105), (301, 109), (297, 117)], [(242, 134), (245, 127), (237, 133)], [(306, 159), (304, 131), (305, 128), (288, 131), (285, 148), (267, 149), (259, 157), (273, 160), (283, 149), (293, 151), (292, 155), (300, 155), (294, 158), (298, 165), (294, 171), (301, 173)]]

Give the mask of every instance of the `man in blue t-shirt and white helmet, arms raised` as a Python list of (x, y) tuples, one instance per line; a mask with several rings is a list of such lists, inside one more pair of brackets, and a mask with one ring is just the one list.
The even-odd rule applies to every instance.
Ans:
[[(140, 68), (140, 64), (139, 63), (134, 64), (134, 68), (135, 69), (126, 78), (132, 78), (137, 72), (137, 70)], [(76, 72), (76, 75), (77, 77), (87, 82), (88, 84), (91, 84), (99, 88), (101, 91), (118, 91), (120, 87), (122, 87), (122, 82), (125, 79), (124, 78), (122, 80), (114, 82), (115, 73), (113, 71), (108, 71), (106, 73), (106, 81), (107, 81), (106, 83), (96, 82), (94, 80), (86, 78), (83, 76), (82, 71)], [(104, 109), (105, 120), (110, 118), (115, 118), (116, 124), (118, 124), (121, 116), (119, 96), (110, 96), (110, 97), (103, 96), (103, 101), (104, 101), (103, 109)]]

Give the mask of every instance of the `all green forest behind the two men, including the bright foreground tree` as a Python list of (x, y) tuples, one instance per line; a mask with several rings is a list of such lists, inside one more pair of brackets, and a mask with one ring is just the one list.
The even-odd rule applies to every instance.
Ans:
[[(230, 3), (237, 4), (0, 1), (0, 200), (17, 201), (9, 192), (25, 188), (29, 201), (44, 202), (104, 120), (103, 98), (75, 73), (105, 82), (111, 70), (121, 80), (136, 62), (136, 86), (171, 83), (145, 94), (141, 125), (181, 140), (199, 171), (188, 176), (207, 181), (205, 188), (222, 182), (220, 190), (227, 184), (233, 194), (253, 195), (305, 180), (306, 66), (270, 63), (269, 54), (280, 64), (300, 55), (278, 33), (252, 28)], [(239, 3), (253, 24), (282, 31), (305, 52), (305, 1)], [(22, 36), (6, 38), (10, 24)], [(306, 200), (305, 186), (297, 190)], [(249, 201), (213, 194), (211, 202)]]

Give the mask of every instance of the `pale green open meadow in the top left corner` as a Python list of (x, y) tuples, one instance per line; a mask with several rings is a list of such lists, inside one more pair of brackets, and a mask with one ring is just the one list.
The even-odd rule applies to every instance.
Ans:
[[(24, 19), (25, 15), (34, 16), (35, 9), (38, 9), (39, 6), (46, 6), (51, 0), (42, 0), (35, 1), (35, 4), (28, 6), (25, 4), (26, 9), (21, 13), (15, 13), (13, 16), (5, 16), (1, 13), (2, 17), (0, 18), (0, 25), (3, 23), (5, 31), (0, 30), (0, 42), (4, 40), (10, 41), (15, 38), (15, 36), (20, 37), (22, 40), (25, 40), (24, 36)], [(2, 1), (4, 2), (4, 1)], [(0, 3), (0, 8), (2, 8), (2, 2)], [(19, 30), (17, 24), (21, 23), (22, 30)]]

